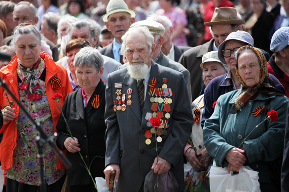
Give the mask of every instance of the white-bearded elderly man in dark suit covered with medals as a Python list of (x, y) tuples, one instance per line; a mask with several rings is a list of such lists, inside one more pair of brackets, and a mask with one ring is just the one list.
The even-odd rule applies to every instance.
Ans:
[[(130, 65), (108, 74), (106, 89), (107, 185), (110, 170), (115, 169), (116, 192), (143, 192), (145, 176), (153, 169), (158, 174), (171, 171), (178, 191), (183, 191), (181, 150), (193, 124), (183, 74), (151, 60), (156, 46), (146, 27), (130, 28), (122, 40)], [(163, 122), (158, 129), (158, 164), (148, 121), (155, 116)]]

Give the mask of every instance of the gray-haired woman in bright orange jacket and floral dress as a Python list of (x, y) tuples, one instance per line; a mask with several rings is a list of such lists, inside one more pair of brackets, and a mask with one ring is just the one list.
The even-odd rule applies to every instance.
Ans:
[[(45, 133), (54, 136), (61, 110), (52, 96), (55, 93), (62, 94), (60, 104), (63, 105), (65, 97), (73, 90), (65, 68), (55, 63), (46, 53), (40, 53), (42, 38), (44, 37), (33, 25), (18, 26), (13, 32), (12, 40), (16, 57), (1, 68), (0, 77), (36, 123), (41, 123)], [(39, 133), (24, 111), (8, 95), (9, 101), (13, 101), (15, 105), (12, 108), (9, 106), (3, 93), (4, 90), (0, 88), (0, 108), (4, 119), (4, 125), (0, 129), (0, 132), (4, 132), (0, 160), (1, 168), (7, 173), (6, 189), (8, 192), (37, 192), (40, 186), (40, 166), (36, 156), (36, 136)], [(6, 105), (8, 106), (3, 109)], [(18, 121), (17, 126), (21, 132), (25, 133), (23, 137), (17, 130), (14, 119)], [(25, 148), (25, 140), (28, 149)], [(56, 153), (50, 146), (45, 145), (43, 153), (47, 191), (61, 191), (65, 167), (57, 160)]]

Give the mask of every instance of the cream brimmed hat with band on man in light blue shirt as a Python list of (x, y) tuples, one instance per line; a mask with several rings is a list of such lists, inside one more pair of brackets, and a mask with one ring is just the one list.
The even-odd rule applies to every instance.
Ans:
[(127, 4), (123, 0), (109, 0), (107, 6), (107, 14), (102, 16), (104, 22), (108, 21), (108, 16), (117, 12), (127, 12), (132, 18), (135, 18), (137, 13), (133, 10), (128, 9)]

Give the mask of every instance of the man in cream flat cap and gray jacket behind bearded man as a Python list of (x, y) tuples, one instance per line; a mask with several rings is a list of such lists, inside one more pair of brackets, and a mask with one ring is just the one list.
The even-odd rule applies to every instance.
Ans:
[[(154, 37), (154, 43), (156, 45), (155, 53), (151, 57), (152, 60), (154, 60), (155, 63), (160, 64), (162, 66), (166, 66), (172, 69), (175, 69), (176, 71), (179, 71), (183, 74), (184, 81), (188, 90), (190, 102), (192, 102), (192, 96), (191, 96), (191, 81), (190, 81), (190, 73), (189, 71), (181, 64), (169, 59), (167, 56), (165, 56), (162, 52), (162, 45), (164, 43), (164, 34), (165, 34), (165, 28), (162, 24), (153, 21), (153, 20), (144, 20), (144, 21), (138, 21), (136, 23), (133, 23), (131, 25), (132, 27), (138, 27), (138, 26), (145, 26), (148, 28), (149, 32)], [(123, 64), (119, 69), (128, 67), (129, 63)]]

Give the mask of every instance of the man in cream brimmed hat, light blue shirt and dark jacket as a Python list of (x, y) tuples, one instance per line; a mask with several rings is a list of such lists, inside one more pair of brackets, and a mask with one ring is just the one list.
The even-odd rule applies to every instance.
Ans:
[(102, 17), (107, 29), (112, 33), (114, 39), (112, 43), (100, 50), (101, 54), (115, 59), (123, 64), (120, 55), (121, 37), (135, 22), (136, 12), (128, 9), (123, 0), (109, 0), (107, 14)]

